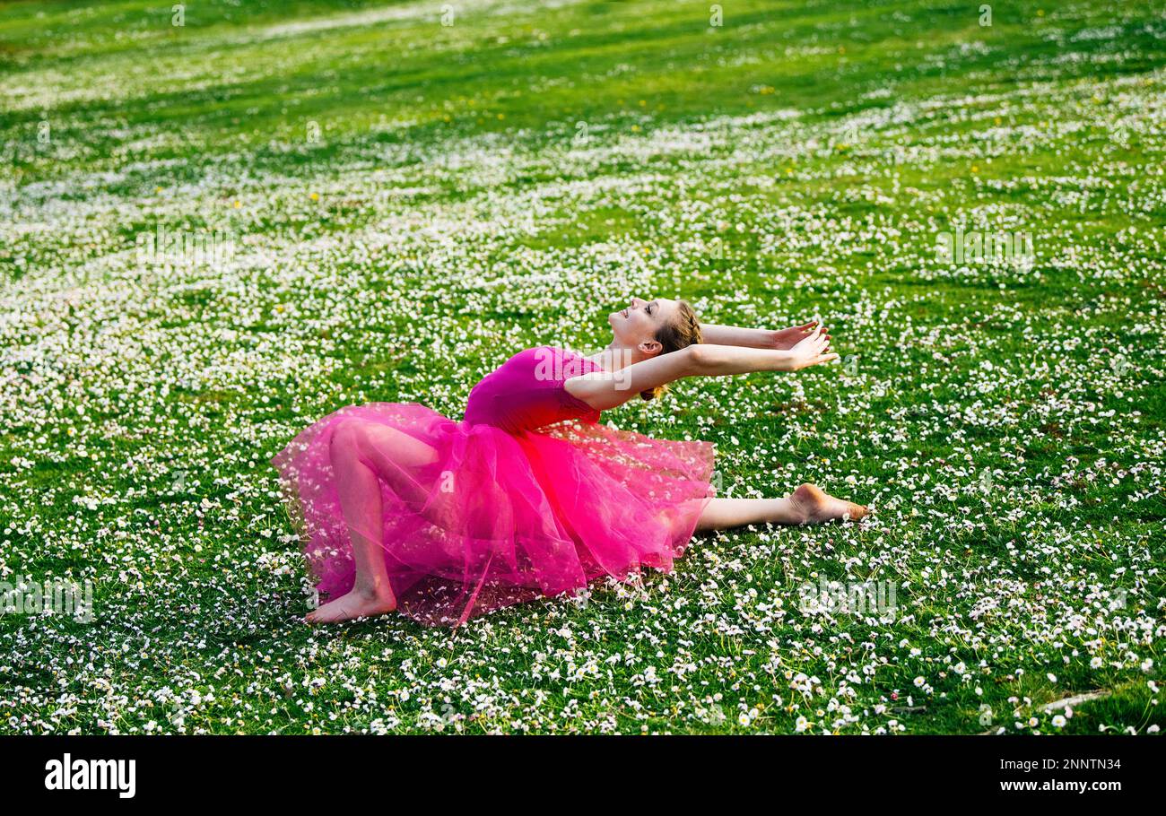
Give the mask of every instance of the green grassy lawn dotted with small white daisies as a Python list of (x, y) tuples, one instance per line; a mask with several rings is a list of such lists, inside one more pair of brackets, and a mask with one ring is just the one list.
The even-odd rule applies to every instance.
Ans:
[[(0, 617), (0, 732), (1166, 723), (1166, 6), (0, 6), (0, 581), (94, 615)], [(461, 418), (630, 295), (820, 315), (840, 366), (605, 416), (873, 519), (456, 633), (300, 622), (272, 455), (354, 402)]]

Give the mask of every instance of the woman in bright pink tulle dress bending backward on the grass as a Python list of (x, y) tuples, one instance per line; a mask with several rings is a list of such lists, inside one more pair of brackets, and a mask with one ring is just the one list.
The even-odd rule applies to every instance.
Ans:
[(701, 325), (683, 301), (633, 297), (592, 357), (522, 351), (470, 392), (455, 422), (417, 403), (350, 406), (273, 460), (329, 602), (309, 622), (394, 610), (459, 625), (602, 576), (670, 570), (696, 530), (861, 519), (802, 485), (784, 499), (714, 498), (712, 445), (598, 424), (684, 377), (799, 371), (837, 359), (807, 323)]

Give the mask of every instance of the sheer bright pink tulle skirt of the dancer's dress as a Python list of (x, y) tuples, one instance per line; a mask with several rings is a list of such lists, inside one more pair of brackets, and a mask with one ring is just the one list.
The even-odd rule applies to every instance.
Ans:
[(670, 570), (712, 495), (705, 442), (583, 423), (510, 434), (416, 403), (344, 408), (273, 459), (324, 599), (356, 576), (333, 471), (333, 441), (345, 432), (380, 492), (371, 512), (352, 507), (367, 491), (347, 494), (350, 520), (382, 548), (399, 611), (429, 625), (603, 576), (627, 581), (644, 567)]

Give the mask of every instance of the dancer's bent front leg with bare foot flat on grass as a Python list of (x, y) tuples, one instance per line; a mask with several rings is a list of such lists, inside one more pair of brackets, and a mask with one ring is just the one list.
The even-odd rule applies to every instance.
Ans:
[(305, 620), (329, 624), (384, 614), (396, 609), (385, 569), (381, 537), (380, 478), (409, 497), (420, 491), (410, 469), (433, 462), (433, 448), (386, 425), (344, 420), (329, 445), (344, 522), (352, 540), (356, 583), (352, 590), (310, 612)]

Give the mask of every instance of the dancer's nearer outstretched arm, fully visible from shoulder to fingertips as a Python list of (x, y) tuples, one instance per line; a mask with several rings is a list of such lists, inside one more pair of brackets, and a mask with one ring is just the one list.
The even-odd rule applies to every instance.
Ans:
[(596, 410), (627, 402), (641, 391), (686, 377), (728, 377), (754, 371), (799, 371), (836, 360), (819, 326), (792, 349), (746, 349), (700, 343), (614, 372), (592, 372), (567, 380), (567, 392)]

